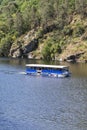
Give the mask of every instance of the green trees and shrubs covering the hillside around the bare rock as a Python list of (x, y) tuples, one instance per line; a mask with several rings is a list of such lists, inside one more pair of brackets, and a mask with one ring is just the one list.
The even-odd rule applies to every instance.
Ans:
[[(61, 54), (68, 38), (80, 37), (85, 25), (72, 27), (73, 15), (87, 16), (87, 0), (0, 0), (0, 56), (8, 56), (15, 40), (34, 29), (37, 37), (53, 32), (42, 49), (45, 59)], [(86, 33), (83, 36), (87, 40)]]

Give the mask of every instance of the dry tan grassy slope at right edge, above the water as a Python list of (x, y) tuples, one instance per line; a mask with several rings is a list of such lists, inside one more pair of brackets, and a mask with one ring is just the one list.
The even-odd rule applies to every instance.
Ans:
[(66, 28), (70, 28), (73, 33), (71, 36), (65, 36), (69, 44), (66, 45), (60, 57), (67, 59), (71, 56), (72, 60), (78, 62), (87, 61), (87, 18), (81, 19), (80, 15), (74, 15)]

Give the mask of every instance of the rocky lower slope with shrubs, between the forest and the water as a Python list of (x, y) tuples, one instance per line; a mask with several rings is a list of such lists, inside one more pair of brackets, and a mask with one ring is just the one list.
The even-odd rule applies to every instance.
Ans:
[[(49, 30), (49, 31), (48, 31)], [(10, 56), (85, 62), (87, 60), (87, 18), (73, 15), (63, 30), (49, 26), (22, 35), (12, 44)]]

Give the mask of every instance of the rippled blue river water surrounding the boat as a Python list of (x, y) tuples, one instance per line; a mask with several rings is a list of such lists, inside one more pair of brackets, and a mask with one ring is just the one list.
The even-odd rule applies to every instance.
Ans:
[(47, 64), (0, 59), (0, 130), (87, 130), (87, 64), (48, 78), (23, 75), (26, 63)]

